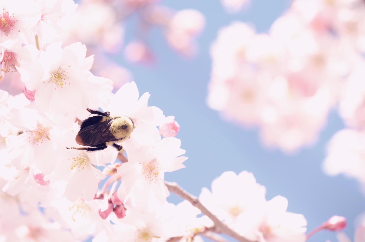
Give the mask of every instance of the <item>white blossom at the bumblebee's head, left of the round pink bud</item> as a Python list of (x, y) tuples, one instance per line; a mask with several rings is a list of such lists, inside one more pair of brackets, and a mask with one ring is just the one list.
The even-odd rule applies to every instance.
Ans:
[[(123, 147), (128, 151), (129, 148), (135, 149), (143, 145), (152, 145), (160, 139), (160, 133), (156, 128), (161, 120), (165, 118), (162, 110), (158, 107), (150, 107), (147, 102), (150, 94), (144, 93), (139, 98), (139, 92), (135, 82), (124, 84), (105, 108), (111, 115), (125, 115), (134, 124), (134, 129), (130, 138), (123, 142)], [(128, 103), (128, 105), (120, 105)]]

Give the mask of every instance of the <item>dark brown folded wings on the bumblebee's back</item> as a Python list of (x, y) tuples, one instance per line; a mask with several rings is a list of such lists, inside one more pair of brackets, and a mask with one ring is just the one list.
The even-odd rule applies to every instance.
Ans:
[(112, 120), (92, 124), (82, 128), (76, 135), (76, 143), (83, 146), (95, 146), (97, 144), (106, 143), (116, 140), (114, 135), (109, 131)]

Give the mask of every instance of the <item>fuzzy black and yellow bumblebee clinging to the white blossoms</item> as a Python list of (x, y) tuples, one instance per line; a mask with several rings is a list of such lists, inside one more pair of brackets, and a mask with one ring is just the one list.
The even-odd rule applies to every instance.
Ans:
[(91, 114), (97, 114), (85, 119), (78, 131), (75, 141), (82, 146), (88, 147), (66, 147), (66, 149), (96, 151), (104, 150), (113, 146), (122, 150), (122, 143), (130, 138), (134, 129), (133, 121), (127, 116), (110, 116), (110, 112), (86, 109)]

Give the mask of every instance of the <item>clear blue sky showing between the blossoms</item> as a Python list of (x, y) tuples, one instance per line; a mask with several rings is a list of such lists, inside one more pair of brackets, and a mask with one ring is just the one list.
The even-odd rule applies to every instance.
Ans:
[[(235, 15), (226, 13), (218, 0), (161, 2), (174, 9), (194, 8), (205, 15), (206, 27), (198, 39), (199, 54), (194, 59), (177, 55), (169, 49), (161, 31), (154, 29), (149, 39), (153, 51), (158, 53), (154, 66), (127, 63), (122, 55), (111, 57), (132, 72), (141, 94), (151, 94), (151, 106), (160, 107), (166, 116), (175, 116), (180, 124), (177, 138), (181, 139), (189, 159), (186, 168), (166, 174), (166, 180), (176, 181), (190, 193), (199, 195), (202, 187), (210, 188), (212, 180), (224, 171), (247, 170), (266, 186), (267, 199), (276, 195), (288, 198), (288, 210), (304, 214), (308, 230), (334, 214), (342, 215), (348, 219), (345, 232), (352, 239), (354, 220), (364, 212), (364, 196), (355, 180), (328, 177), (321, 169), (328, 140), (344, 127), (335, 110), (314, 146), (287, 155), (279, 150), (267, 150), (257, 130), (223, 121), (205, 102), (211, 72), (209, 49), (218, 30), (239, 20), (251, 23), (258, 32), (265, 32), (290, 1), (252, 0), (247, 9)], [(130, 20), (126, 25), (126, 43), (133, 39), (134, 33), (135, 24)], [(239, 187), (229, 189), (239, 190)], [(180, 199), (172, 195), (169, 201), (176, 203)], [(326, 239), (337, 241), (331, 232), (320, 232), (309, 241)]]

